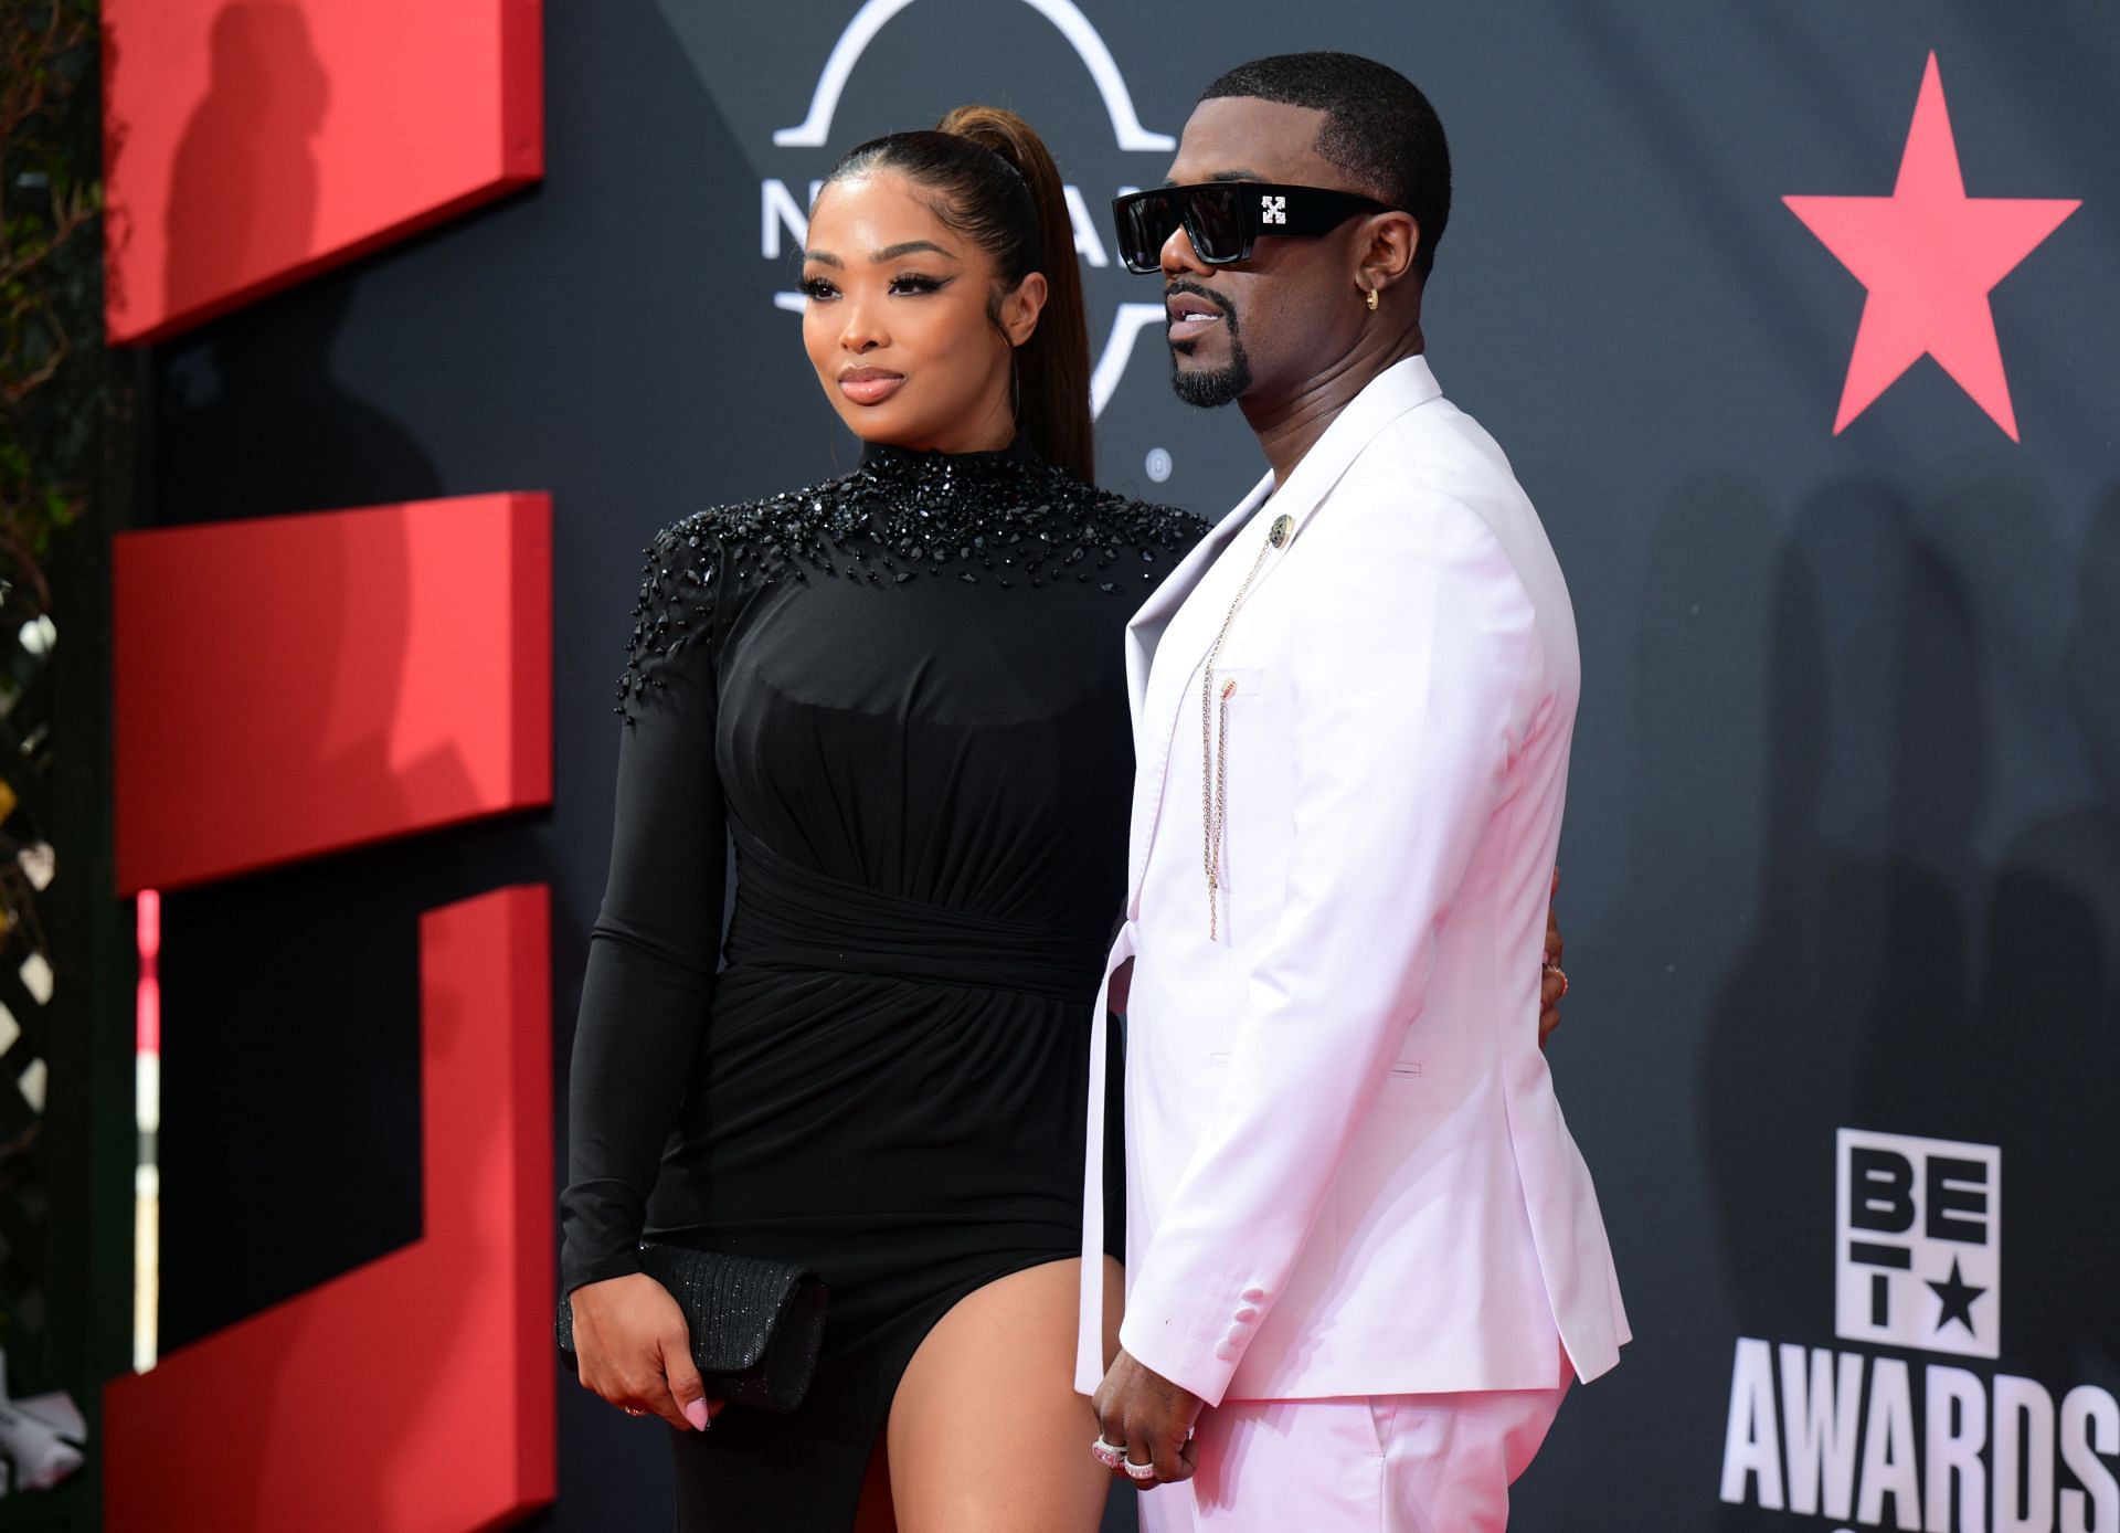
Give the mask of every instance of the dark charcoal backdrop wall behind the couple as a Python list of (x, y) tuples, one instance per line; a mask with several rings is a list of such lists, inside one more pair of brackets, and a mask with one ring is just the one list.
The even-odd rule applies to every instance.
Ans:
[[(1102, 244), (1168, 163), (1138, 144), (1227, 64), (1344, 47), (1450, 129), (1431, 358), (1582, 625), (1552, 1058), (1637, 1342), (1520, 1525), (2120, 1527), (2120, 11), (920, 0), (823, 144), (778, 142), (854, 13), (551, 4), (543, 187), (155, 352), (148, 522), (551, 490), (560, 689), (549, 818), (167, 901), (165, 1344), (418, 1230), (413, 967), (348, 931), (549, 878), (564, 1088), (638, 549), (852, 460), (774, 301), (833, 151), (1024, 110), (1092, 214), (1102, 343), (1155, 301)], [(1931, 51), (1967, 191), (2084, 204), (1993, 293), (2020, 441), (1933, 360), (1834, 435), (1863, 288), (1781, 199), (1891, 193)], [(1153, 329), (1105, 377), (1107, 483), (1219, 511), (1259, 471)], [(1847, 1440), (1806, 1474), (1827, 1385)], [(534, 1527), (661, 1522), (659, 1429), (564, 1391), (560, 1431)]]

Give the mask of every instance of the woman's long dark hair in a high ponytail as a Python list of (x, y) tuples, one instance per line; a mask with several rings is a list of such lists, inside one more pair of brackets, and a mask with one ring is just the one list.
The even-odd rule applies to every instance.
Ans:
[[(933, 131), (871, 138), (848, 151), (827, 184), (895, 170), (935, 193), (935, 216), (986, 250), (1003, 290), (1045, 274), (1045, 310), (1015, 348), (1015, 424), (1045, 462), (1096, 475), (1090, 426), (1090, 322), (1075, 265), (1075, 225), (1052, 151), (1015, 112), (958, 106)], [(1001, 327), (999, 295), (990, 305)]]

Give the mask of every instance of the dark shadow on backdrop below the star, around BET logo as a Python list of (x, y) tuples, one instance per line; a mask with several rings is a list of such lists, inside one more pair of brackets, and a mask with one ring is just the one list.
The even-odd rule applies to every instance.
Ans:
[[(2044, 522), (2022, 488), (1976, 511), (2018, 536)], [(2059, 1399), (2112, 1389), (2120, 1361), (2082, 1325), (2120, 1253), (2101, 1170), (2120, 1071), (2120, 496), (2086, 543), (2067, 662), (2095, 801), (2006, 838), (1995, 676), (2012, 672), (1980, 606), (1995, 577), (1946, 553), (1933, 522), (1885, 486), (1832, 483), (1777, 572), (1757, 924), (1702, 1081), (1715, 1209), (1743, 1334), (1832, 1349), (1836, 1130), (1999, 1145), (2001, 1359), (1976, 1365)]]

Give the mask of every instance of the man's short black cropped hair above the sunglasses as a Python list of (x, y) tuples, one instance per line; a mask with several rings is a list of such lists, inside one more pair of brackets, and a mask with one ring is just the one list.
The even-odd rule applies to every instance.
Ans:
[(1323, 110), (1312, 146), (1361, 191), (1414, 216), (1414, 271), (1427, 280), (1450, 221), (1450, 144), (1410, 78), (1355, 53), (1276, 53), (1238, 64), (1200, 91), (1202, 102), (1227, 95)]

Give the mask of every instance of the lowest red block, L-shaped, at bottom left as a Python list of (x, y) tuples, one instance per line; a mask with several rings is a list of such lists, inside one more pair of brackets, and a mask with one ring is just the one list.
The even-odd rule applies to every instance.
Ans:
[(112, 1529), (462, 1533), (551, 1499), (545, 888), (422, 916), (420, 999), (426, 1234), (112, 1382)]

